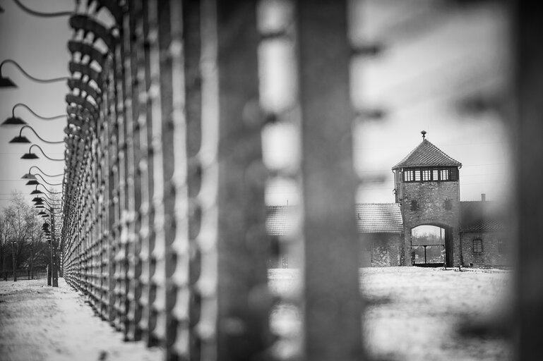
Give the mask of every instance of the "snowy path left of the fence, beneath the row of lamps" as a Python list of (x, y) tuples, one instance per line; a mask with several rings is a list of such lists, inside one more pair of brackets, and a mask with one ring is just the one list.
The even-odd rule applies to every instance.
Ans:
[(59, 279), (0, 282), (0, 360), (161, 360), (157, 349), (125, 343), (122, 334)]

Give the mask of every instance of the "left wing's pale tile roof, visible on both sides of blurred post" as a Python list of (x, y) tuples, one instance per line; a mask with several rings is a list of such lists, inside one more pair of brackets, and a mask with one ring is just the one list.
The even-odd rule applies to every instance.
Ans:
[[(358, 233), (401, 233), (400, 205), (396, 203), (357, 204)], [(285, 235), (294, 224), (294, 207), (268, 206), (265, 229), (268, 235)]]

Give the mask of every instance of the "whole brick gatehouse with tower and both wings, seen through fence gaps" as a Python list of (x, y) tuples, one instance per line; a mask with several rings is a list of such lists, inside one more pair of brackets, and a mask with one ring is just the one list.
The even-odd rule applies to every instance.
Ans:
[[(392, 167), (395, 202), (357, 204), (360, 264), (507, 266), (503, 218), (496, 204), (484, 195), (479, 201), (460, 201), (462, 164), (422, 134), (422, 142)], [(294, 212), (294, 207), (268, 207), (268, 234), (277, 240), (288, 238)], [(282, 247), (276, 251), (270, 267), (297, 267), (292, 252)]]

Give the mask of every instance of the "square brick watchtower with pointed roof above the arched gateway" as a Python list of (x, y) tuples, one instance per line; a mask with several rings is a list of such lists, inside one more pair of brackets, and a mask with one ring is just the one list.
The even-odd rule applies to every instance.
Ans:
[[(405, 265), (426, 262), (426, 249), (441, 253), (446, 266), (461, 262), (459, 161), (449, 157), (426, 139), (407, 157), (393, 166), (396, 203), (400, 204), (405, 240), (400, 245), (400, 262)], [(443, 230), (442, 243), (422, 245), (412, 240), (412, 230), (436, 226)], [(424, 253), (422, 252), (424, 247)], [(424, 258), (422, 258), (424, 255)], [(424, 262), (416, 262), (416, 259)]]

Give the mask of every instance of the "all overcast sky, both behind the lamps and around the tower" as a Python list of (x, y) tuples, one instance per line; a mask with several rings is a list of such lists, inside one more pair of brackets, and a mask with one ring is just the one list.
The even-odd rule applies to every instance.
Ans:
[[(494, 111), (474, 115), (458, 108), (458, 103), (471, 94), (503, 90), (508, 73), (503, 14), (495, 4), (436, 7), (443, 3), (368, 0), (352, 7), (354, 42), (378, 41), (384, 46), (381, 55), (353, 61), (350, 70), (355, 108), (386, 111), (383, 120), (354, 127), (355, 166), (364, 190), (359, 202), (394, 201), (390, 168), (419, 144), (421, 130), (428, 132), (426, 137), (434, 145), (463, 164), (462, 200), (477, 200), (481, 193), (487, 193), (489, 200), (500, 200), (507, 190), (506, 119)], [(24, 4), (46, 12), (74, 8), (70, 0), (25, 0)], [(7, 0), (0, 1), (0, 6), (5, 10), (0, 14), (1, 60), (16, 60), (37, 78), (68, 75), (68, 18), (36, 18)], [(18, 88), (0, 89), (0, 121), (10, 116), (13, 105), (19, 102), (42, 116), (65, 112), (66, 82), (38, 84), (11, 64), (6, 64), (2, 73)], [(42, 121), (23, 108), (16, 109), (16, 116), (24, 118), (47, 140), (64, 137), (65, 119)], [(63, 162), (41, 157), (37, 149), (39, 160), (20, 159), (28, 145), (8, 145), (16, 133), (15, 129), (0, 128), (0, 208), (6, 206), (12, 190), (31, 191), (20, 181), (30, 166), (40, 166), (46, 173), (61, 173), (64, 167)], [(278, 141), (265, 142), (266, 157), (289, 157), (297, 147), (295, 139), (285, 132), (276, 133)], [(29, 130), (23, 134), (42, 146), (49, 157), (63, 157), (64, 145), (43, 145)], [(266, 199), (269, 204), (295, 204), (297, 192), (273, 183)]]

